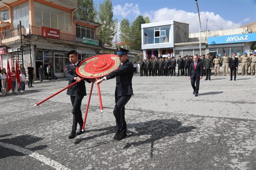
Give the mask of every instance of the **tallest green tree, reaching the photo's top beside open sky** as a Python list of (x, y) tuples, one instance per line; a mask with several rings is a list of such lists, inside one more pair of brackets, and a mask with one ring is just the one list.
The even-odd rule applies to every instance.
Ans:
[(101, 24), (98, 29), (99, 39), (111, 46), (117, 32), (117, 19), (113, 20), (111, 0), (104, 0), (103, 3), (99, 3), (98, 19)]

